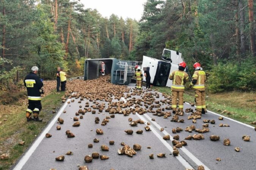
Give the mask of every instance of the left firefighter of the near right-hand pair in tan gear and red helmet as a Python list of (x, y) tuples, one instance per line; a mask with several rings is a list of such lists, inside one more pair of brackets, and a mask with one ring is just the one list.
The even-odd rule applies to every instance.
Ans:
[(173, 108), (173, 113), (176, 112), (177, 108), (177, 98), (179, 98), (179, 111), (183, 111), (183, 94), (185, 91), (185, 82), (188, 82), (188, 74), (184, 71), (186, 68), (186, 63), (179, 63), (179, 69), (174, 70), (169, 79), (173, 80), (171, 85), (171, 107)]

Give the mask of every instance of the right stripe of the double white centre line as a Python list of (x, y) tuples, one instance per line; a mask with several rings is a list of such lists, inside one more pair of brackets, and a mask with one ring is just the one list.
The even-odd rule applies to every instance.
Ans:
[[(147, 117), (148, 118), (148, 120), (152, 123), (152, 124), (154, 124), (155, 125), (155, 127), (157, 127), (159, 130), (160, 130), (160, 128), (162, 128), (162, 127), (160, 127), (160, 125), (159, 124), (157, 124), (156, 122), (154, 122), (154, 121), (151, 121), (151, 117), (149, 117), (148, 116), (148, 114), (143, 114), (145, 117)], [(167, 134), (169, 134), (167, 131), (165, 131), (165, 130), (163, 130), (162, 131), (163, 132), (163, 134), (165, 134), (165, 135), (167, 135)], [(170, 135), (170, 134), (169, 134)], [(173, 141), (173, 137), (170, 135), (170, 139), (171, 139), (171, 141)], [(185, 147), (182, 147), (182, 148), (180, 148), (180, 150), (182, 150), (192, 161), (194, 161), (195, 163), (196, 163), (196, 165), (203, 165), (204, 166), (204, 169), (205, 170), (210, 170), (208, 167), (206, 167), (206, 165), (204, 165), (203, 164), (203, 162), (201, 162), (198, 158), (196, 158), (190, 151), (188, 151)]]

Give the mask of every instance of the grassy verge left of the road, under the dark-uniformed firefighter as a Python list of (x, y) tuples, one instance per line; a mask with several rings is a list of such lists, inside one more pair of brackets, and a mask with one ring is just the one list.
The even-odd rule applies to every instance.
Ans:
[[(3, 117), (0, 118), (0, 121), (3, 121), (3, 119), (7, 119), (7, 121), (3, 121), (0, 125), (0, 154), (8, 153), (10, 157), (8, 160), (0, 160), (0, 170), (9, 169), (31, 145), (36, 136), (54, 116), (52, 110), (61, 107), (60, 97), (63, 95), (64, 92), (51, 93), (42, 99), (42, 110), (39, 117), (44, 119), (43, 122), (27, 122), (25, 116), (27, 105), (24, 104), (14, 104), (9, 106), (9, 109), (2, 110), (1, 115)], [(24, 103), (27, 104), (27, 101), (24, 101)], [(15, 108), (15, 110), (12, 108)], [(21, 141), (25, 141), (24, 146), (18, 145)]]

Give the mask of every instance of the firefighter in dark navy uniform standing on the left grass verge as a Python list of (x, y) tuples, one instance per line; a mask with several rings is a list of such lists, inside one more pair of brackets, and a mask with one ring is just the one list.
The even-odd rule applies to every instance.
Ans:
[[(43, 94), (42, 86), (44, 85), (39, 77), (36, 75), (38, 73), (38, 67), (33, 66), (31, 72), (25, 77), (24, 85), (27, 87), (28, 92), (28, 108), (26, 110), (27, 121), (37, 121), (42, 122), (38, 115), (42, 109), (41, 105), (41, 94)], [(31, 114), (33, 112), (34, 119), (32, 119)]]

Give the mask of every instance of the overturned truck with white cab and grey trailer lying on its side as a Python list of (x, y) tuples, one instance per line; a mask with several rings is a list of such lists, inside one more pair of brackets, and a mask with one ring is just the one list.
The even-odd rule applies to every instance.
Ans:
[[(107, 59), (86, 59), (84, 80), (97, 79), (100, 76), (110, 75), (111, 83), (128, 85), (132, 82), (135, 73), (135, 66), (141, 65), (143, 70), (148, 70), (151, 75), (150, 83), (154, 86), (171, 87), (172, 80), (169, 75), (173, 70), (178, 69), (179, 63), (184, 61), (181, 53), (164, 49), (163, 60), (143, 56), (143, 62), (125, 61), (115, 58)], [(188, 69), (186, 68), (185, 71)], [(189, 73), (188, 73), (189, 74)], [(143, 79), (146, 81), (145, 77)]]

